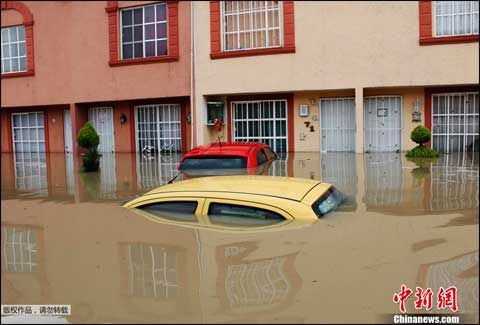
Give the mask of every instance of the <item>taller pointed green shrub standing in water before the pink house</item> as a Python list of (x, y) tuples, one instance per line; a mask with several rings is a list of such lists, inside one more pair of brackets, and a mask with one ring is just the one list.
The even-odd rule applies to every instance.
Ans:
[(77, 137), (77, 143), (80, 147), (87, 149), (83, 154), (83, 171), (96, 172), (100, 167), (101, 154), (98, 153), (98, 144), (100, 138), (97, 131), (90, 122), (85, 123), (80, 129)]

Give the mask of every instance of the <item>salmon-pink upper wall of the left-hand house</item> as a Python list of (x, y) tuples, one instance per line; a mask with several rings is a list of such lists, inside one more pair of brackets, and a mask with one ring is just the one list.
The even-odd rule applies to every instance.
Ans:
[[(178, 4), (178, 61), (118, 67), (108, 65), (107, 1), (23, 3), (33, 14), (35, 75), (3, 79), (2, 107), (190, 96), (190, 2)], [(18, 23), (11, 11), (2, 10), (2, 27)]]

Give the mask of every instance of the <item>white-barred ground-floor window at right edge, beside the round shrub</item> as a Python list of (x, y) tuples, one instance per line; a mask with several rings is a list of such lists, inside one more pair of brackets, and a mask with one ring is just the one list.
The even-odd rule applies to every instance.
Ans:
[(479, 94), (432, 95), (432, 147), (440, 152), (478, 151)]

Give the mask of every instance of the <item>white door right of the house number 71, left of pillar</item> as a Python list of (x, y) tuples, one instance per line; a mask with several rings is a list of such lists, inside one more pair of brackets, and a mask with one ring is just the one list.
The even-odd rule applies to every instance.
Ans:
[(355, 151), (355, 99), (320, 101), (321, 150)]

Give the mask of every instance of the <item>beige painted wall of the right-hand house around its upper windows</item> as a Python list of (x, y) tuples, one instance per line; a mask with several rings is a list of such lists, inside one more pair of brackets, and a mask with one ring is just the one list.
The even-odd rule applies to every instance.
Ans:
[[(200, 140), (209, 138), (204, 127), (205, 95), (479, 82), (478, 43), (419, 46), (416, 1), (296, 1), (296, 53), (221, 60), (209, 57), (210, 25), (205, 23), (210, 20), (208, 1), (193, 6)], [(411, 110), (410, 96), (416, 94), (405, 95), (405, 117)], [(295, 96), (296, 109), (301, 100), (301, 96)], [(408, 130), (413, 125), (408, 120), (411, 115), (404, 119), (404, 149), (411, 147)], [(317, 135), (315, 132), (311, 136)], [(296, 150), (313, 150), (318, 140), (300, 143), (296, 139)]]

